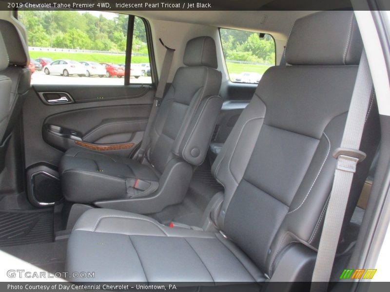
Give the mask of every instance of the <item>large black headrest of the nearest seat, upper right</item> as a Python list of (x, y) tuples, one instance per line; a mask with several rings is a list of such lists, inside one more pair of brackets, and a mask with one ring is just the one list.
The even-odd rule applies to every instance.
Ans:
[(321, 11), (295, 21), (285, 59), (290, 65), (357, 65), (362, 49), (352, 11)]

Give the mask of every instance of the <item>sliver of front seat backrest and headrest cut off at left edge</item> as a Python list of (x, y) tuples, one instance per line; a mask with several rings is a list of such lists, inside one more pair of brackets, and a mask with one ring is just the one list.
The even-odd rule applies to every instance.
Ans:
[[(9, 64), (3, 34), (0, 32), (0, 141), (3, 141), (9, 117), (12, 81), (4, 74)], [(2, 143), (0, 143), (1, 146)]]

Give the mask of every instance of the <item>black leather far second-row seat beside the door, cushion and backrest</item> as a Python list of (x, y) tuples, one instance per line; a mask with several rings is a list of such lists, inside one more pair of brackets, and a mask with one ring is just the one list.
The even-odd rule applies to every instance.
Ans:
[[(134, 179), (158, 182), (174, 158), (193, 165), (203, 162), (222, 106), (218, 96), (221, 73), (211, 68), (216, 67), (215, 43), (211, 37), (190, 40), (184, 58), (190, 53), (189, 67), (177, 70), (150, 131), (150, 165), (71, 148), (59, 166), (67, 200), (96, 202), (129, 198), (133, 195)], [(197, 59), (196, 55), (201, 57)]]

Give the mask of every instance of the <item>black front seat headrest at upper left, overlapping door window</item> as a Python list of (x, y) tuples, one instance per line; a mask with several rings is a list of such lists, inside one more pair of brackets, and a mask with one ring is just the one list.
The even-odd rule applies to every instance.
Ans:
[(0, 32), (3, 36), (7, 36), (4, 38), (4, 43), (8, 52), (9, 64), (28, 66), (30, 62), (28, 48), (20, 31), (11, 22), (0, 19)]

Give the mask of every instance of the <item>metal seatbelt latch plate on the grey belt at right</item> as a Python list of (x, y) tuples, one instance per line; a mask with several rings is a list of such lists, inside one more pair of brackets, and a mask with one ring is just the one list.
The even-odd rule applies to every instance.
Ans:
[(333, 157), (337, 159), (338, 170), (356, 172), (356, 164), (366, 159), (366, 153), (360, 150), (338, 147), (333, 152)]

